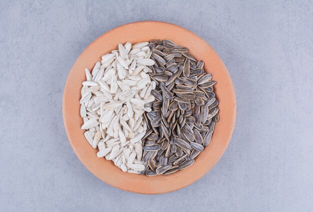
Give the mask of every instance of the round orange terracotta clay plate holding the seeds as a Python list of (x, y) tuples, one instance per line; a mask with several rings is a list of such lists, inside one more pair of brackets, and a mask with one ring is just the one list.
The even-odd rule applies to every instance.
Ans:
[[(112, 161), (98, 158), (83, 135), (79, 115), (81, 82), (84, 68), (92, 69), (101, 55), (117, 49), (118, 43), (171, 39), (186, 46), (191, 55), (204, 61), (204, 69), (217, 81), (214, 90), (219, 100), (219, 121), (215, 124), (209, 145), (196, 158), (193, 165), (169, 175), (145, 176), (122, 172)], [(77, 58), (71, 68), (63, 94), (63, 120), (69, 142), (80, 161), (104, 182), (131, 192), (164, 193), (185, 187), (201, 178), (219, 160), (231, 137), (236, 116), (235, 93), (228, 71), (217, 53), (200, 37), (180, 26), (159, 22), (140, 21), (114, 28), (94, 40)]]

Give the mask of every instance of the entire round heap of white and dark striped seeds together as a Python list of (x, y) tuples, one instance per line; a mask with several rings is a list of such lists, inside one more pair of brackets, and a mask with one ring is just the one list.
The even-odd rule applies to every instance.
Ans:
[(169, 39), (118, 44), (82, 82), (81, 129), (122, 171), (170, 174), (193, 164), (218, 121), (212, 75)]

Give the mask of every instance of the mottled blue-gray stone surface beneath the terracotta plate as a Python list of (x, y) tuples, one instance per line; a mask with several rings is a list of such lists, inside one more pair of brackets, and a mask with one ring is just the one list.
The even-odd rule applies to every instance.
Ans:
[[(312, 211), (312, 11), (310, 0), (1, 0), (0, 211)], [(236, 125), (220, 161), (161, 195), (100, 181), (76, 157), (62, 121), (78, 55), (139, 20), (198, 34), (236, 91)]]

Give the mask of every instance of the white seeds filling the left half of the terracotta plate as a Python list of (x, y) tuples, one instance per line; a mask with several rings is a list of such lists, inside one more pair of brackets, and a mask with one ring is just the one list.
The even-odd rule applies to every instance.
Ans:
[(90, 73), (85, 68), (86, 81), (82, 82), (80, 116), (81, 129), (97, 156), (112, 160), (122, 171), (140, 173), (142, 138), (147, 130), (145, 104), (154, 100), (150, 94), (155, 82), (150, 80), (148, 67), (152, 51), (148, 42), (131, 45), (118, 44), (97, 61)]

